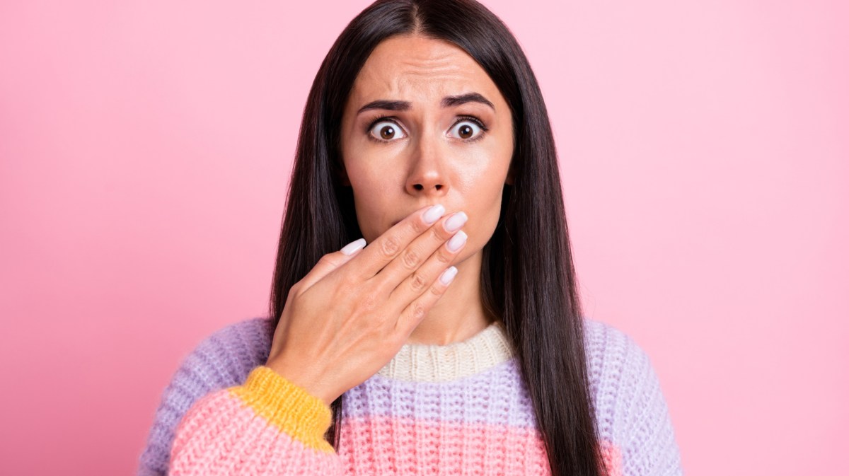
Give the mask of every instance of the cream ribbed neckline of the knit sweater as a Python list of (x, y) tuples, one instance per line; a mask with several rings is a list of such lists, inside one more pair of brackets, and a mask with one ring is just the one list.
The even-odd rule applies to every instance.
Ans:
[(378, 375), (415, 382), (447, 382), (509, 361), (513, 350), (500, 322), (451, 344), (404, 344)]

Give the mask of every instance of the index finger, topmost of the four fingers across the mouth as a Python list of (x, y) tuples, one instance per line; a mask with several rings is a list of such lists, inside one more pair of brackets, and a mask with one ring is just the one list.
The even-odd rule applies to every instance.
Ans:
[(406, 249), (414, 238), (436, 223), (445, 214), (445, 207), (435, 204), (414, 211), (384, 232), (357, 255), (357, 274), (363, 279), (374, 277), (391, 260)]

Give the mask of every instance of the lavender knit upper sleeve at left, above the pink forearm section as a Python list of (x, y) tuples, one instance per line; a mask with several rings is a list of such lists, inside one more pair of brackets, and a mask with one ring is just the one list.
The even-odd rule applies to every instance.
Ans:
[(265, 363), (271, 347), (264, 318), (231, 324), (201, 342), (174, 373), (162, 393), (139, 457), (138, 476), (165, 476), (177, 424), (195, 401), (219, 389), (245, 383)]

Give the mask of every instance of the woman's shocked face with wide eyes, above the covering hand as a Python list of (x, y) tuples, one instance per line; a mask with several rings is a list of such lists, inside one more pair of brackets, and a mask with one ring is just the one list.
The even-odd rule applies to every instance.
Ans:
[(498, 223), (513, 124), (498, 87), (450, 42), (393, 36), (354, 81), (342, 116), (344, 182), (368, 243), (414, 210), (469, 216), (458, 257), (479, 252)]

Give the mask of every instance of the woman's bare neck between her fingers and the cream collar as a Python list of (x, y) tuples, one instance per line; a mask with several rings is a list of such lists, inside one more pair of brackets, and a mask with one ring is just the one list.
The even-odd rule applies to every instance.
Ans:
[(408, 344), (460, 342), (480, 333), (495, 321), (486, 313), (481, 298), (482, 257), (483, 251), (479, 250), (454, 265), (457, 266), (457, 276), (419, 327), (410, 333)]

